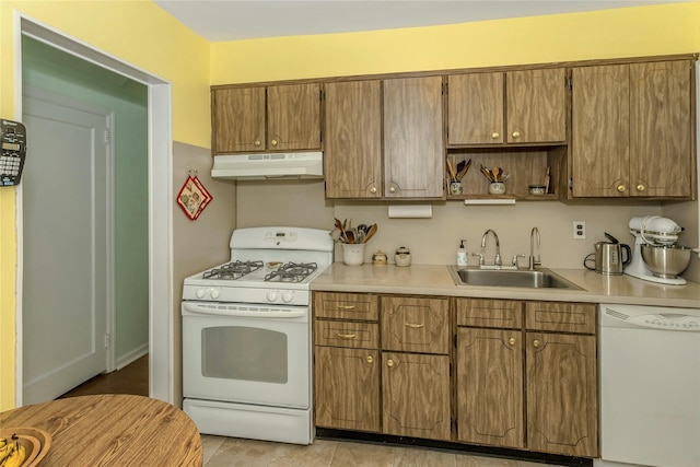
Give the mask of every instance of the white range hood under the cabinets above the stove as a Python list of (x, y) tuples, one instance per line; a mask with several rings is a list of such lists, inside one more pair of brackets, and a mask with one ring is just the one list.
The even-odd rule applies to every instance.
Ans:
[(212, 178), (301, 179), (323, 178), (324, 159), (318, 152), (275, 152), (215, 155)]

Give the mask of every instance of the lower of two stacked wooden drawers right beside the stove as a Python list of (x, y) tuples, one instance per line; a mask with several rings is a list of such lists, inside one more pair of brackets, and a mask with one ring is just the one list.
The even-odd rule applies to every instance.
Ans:
[(376, 323), (316, 320), (314, 323), (314, 343), (316, 346), (378, 349), (380, 325)]

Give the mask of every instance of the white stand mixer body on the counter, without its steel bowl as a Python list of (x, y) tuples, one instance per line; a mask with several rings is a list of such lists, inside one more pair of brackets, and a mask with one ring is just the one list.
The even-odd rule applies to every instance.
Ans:
[(642, 259), (641, 247), (643, 244), (672, 246), (678, 241), (678, 234), (684, 229), (667, 218), (658, 215), (635, 217), (628, 224), (630, 233), (634, 235), (634, 248), (632, 260), (625, 267), (625, 273), (650, 282), (665, 283), (669, 285), (682, 285), (686, 280), (681, 277), (655, 276)]

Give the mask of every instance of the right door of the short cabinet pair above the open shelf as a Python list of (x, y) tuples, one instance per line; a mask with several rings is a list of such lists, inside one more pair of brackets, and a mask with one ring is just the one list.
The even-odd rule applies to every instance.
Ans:
[(511, 71), (506, 77), (506, 141), (565, 142), (564, 69)]

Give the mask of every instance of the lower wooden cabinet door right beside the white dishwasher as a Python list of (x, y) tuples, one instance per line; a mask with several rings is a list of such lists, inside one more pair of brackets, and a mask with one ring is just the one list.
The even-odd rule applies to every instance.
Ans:
[(527, 332), (527, 448), (598, 456), (594, 336)]

